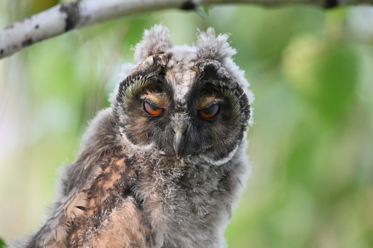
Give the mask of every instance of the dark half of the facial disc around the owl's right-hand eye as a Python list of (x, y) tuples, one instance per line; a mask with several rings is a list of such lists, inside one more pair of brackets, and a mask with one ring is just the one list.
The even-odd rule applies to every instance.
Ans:
[(219, 68), (213, 63), (202, 67), (186, 96), (192, 121), (185, 150), (202, 152), (215, 160), (236, 148), (250, 113), (243, 90), (227, 75), (219, 74)]

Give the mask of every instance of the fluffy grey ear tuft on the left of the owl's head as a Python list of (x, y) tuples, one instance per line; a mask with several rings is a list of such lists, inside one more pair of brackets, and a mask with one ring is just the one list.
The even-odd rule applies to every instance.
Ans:
[(172, 36), (170, 31), (163, 25), (154, 25), (150, 30), (145, 30), (140, 41), (135, 46), (135, 59), (143, 61), (145, 58), (172, 48)]

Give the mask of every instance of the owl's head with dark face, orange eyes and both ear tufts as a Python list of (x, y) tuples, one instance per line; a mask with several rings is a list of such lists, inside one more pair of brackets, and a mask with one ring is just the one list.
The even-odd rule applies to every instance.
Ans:
[(253, 97), (227, 39), (209, 28), (196, 46), (174, 46), (164, 26), (145, 30), (135, 47), (140, 62), (113, 99), (117, 126), (132, 148), (216, 165), (233, 157)]

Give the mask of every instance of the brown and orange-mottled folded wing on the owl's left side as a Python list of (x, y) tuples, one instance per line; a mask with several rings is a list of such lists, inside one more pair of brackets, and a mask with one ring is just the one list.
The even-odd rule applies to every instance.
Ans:
[[(63, 196), (27, 247), (151, 247), (150, 228), (132, 188), (137, 174), (123, 152), (111, 111), (86, 131), (78, 159), (63, 178)], [(108, 236), (108, 233), (111, 233)]]

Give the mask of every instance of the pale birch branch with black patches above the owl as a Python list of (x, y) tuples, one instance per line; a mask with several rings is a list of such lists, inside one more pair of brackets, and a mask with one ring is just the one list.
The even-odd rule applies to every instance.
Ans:
[(194, 10), (202, 5), (248, 3), (262, 6), (308, 4), (320, 7), (373, 4), (373, 0), (77, 0), (15, 22), (0, 30), (0, 59), (36, 42), (75, 28), (139, 13), (164, 9)]

